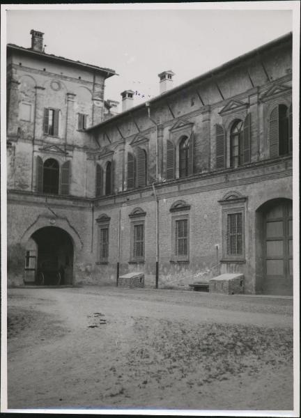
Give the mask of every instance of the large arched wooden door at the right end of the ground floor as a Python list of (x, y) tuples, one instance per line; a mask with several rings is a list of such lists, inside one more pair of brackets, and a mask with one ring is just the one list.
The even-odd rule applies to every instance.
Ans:
[(293, 295), (293, 202), (273, 199), (256, 211), (256, 290)]

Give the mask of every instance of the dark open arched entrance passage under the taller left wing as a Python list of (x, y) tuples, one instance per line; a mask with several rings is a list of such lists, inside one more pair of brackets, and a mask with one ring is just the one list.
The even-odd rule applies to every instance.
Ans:
[(72, 284), (73, 242), (56, 226), (45, 226), (31, 235), (26, 245), (25, 283)]

